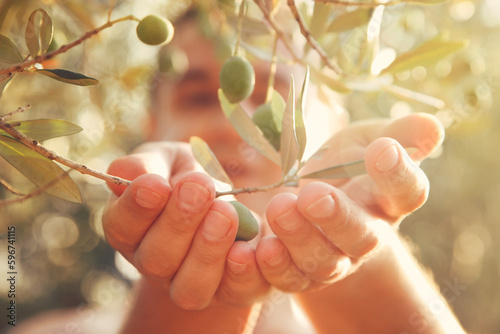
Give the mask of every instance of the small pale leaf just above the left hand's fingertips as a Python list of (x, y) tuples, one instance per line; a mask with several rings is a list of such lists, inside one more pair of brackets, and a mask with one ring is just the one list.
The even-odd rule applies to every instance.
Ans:
[(203, 139), (196, 136), (191, 137), (189, 143), (191, 144), (191, 150), (193, 151), (196, 161), (200, 163), (208, 175), (216, 180), (227, 183), (231, 185), (231, 188), (234, 188), (231, 179), (226, 174), (226, 171), (220, 164), (219, 160), (217, 160), (208, 144)]

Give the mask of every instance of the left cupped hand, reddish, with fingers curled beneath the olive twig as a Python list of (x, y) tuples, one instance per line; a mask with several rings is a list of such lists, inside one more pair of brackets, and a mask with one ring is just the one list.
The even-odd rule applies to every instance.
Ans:
[(103, 215), (106, 238), (183, 309), (250, 304), (269, 284), (254, 249), (234, 242), (236, 210), (215, 199), (212, 180), (190, 152), (183, 143), (149, 143), (111, 164), (110, 174), (133, 182), (110, 185), (115, 196)]

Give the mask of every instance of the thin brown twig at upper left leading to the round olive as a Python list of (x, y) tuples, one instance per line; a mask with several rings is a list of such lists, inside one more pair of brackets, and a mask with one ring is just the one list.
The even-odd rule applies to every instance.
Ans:
[(77, 40), (75, 40), (75, 41), (73, 41), (73, 42), (71, 42), (69, 44), (62, 45), (59, 49), (56, 49), (56, 50), (54, 50), (52, 52), (49, 52), (49, 53), (45, 53), (43, 55), (37, 56), (37, 57), (29, 59), (29, 60), (25, 60), (22, 63), (18, 63), (18, 64), (15, 64), (15, 65), (12, 65), (10, 67), (6, 67), (6, 68), (1, 69), (0, 70), (0, 78), (4, 77), (4, 76), (8, 77), (8, 76), (10, 76), (10, 75), (12, 75), (13, 73), (16, 73), (16, 72), (23, 72), (25, 69), (30, 68), (31, 66), (33, 66), (35, 64), (43, 63), (44, 61), (52, 59), (55, 56), (57, 56), (57, 55), (59, 55), (61, 53), (64, 53), (64, 52), (68, 51), (69, 49), (74, 48), (77, 45), (80, 45), (85, 40), (87, 40), (90, 37), (98, 34), (102, 30), (107, 29), (107, 28), (115, 25), (118, 22), (128, 21), (128, 20), (140, 21), (138, 18), (136, 18), (133, 15), (124, 16), (124, 17), (121, 17), (121, 18), (113, 20), (113, 21), (107, 21), (102, 26), (100, 26), (100, 27), (98, 27), (98, 28), (96, 28), (94, 30), (86, 32), (79, 39), (77, 39)]

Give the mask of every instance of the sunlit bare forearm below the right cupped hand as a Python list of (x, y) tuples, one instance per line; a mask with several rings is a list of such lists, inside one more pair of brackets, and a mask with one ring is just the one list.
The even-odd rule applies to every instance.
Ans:
[(298, 296), (319, 333), (464, 333), (399, 238), (341, 282)]

